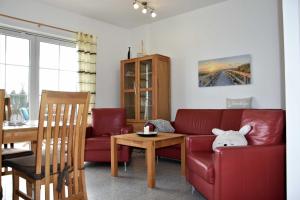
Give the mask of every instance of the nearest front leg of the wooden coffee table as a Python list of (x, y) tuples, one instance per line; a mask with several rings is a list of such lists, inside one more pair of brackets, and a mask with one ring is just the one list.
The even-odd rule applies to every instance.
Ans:
[(149, 188), (155, 187), (155, 146), (154, 142), (150, 141), (147, 144), (147, 182)]

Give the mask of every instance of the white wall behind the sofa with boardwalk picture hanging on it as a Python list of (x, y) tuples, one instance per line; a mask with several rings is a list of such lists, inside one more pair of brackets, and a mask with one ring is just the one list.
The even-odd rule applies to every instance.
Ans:
[[(226, 97), (254, 97), (255, 108), (281, 108), (284, 94), (277, 0), (228, 0), (132, 30), (131, 45), (172, 60), (172, 116), (182, 107), (224, 108)], [(158, 16), (159, 17), (159, 16)], [(199, 60), (252, 57), (252, 84), (198, 87)]]

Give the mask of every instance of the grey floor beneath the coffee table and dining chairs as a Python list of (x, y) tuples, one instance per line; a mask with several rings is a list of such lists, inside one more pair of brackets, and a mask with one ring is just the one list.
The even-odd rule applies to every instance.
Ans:
[[(191, 185), (180, 175), (180, 163), (167, 159), (159, 159), (156, 187), (149, 189), (144, 154), (138, 150), (126, 172), (119, 166), (118, 177), (111, 177), (109, 164), (86, 163), (85, 167), (89, 200), (205, 200), (197, 191), (192, 194)], [(10, 200), (11, 177), (2, 181), (4, 200)]]

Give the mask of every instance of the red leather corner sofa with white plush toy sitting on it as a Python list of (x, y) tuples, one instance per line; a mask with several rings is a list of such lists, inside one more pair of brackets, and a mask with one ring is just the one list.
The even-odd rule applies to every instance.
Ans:
[[(212, 128), (238, 130), (249, 124), (248, 146), (212, 151)], [(187, 134), (186, 178), (207, 199), (285, 199), (285, 113), (280, 109), (180, 109), (176, 133)], [(180, 158), (173, 146), (157, 155)]]

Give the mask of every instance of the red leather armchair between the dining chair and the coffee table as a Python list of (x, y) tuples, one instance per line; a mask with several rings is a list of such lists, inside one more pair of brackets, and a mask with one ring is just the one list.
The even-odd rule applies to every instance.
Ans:
[[(124, 108), (92, 109), (92, 126), (86, 131), (85, 161), (110, 162), (110, 136), (131, 132), (133, 128), (126, 125)], [(130, 158), (131, 149), (119, 145), (118, 161), (126, 164)]]

